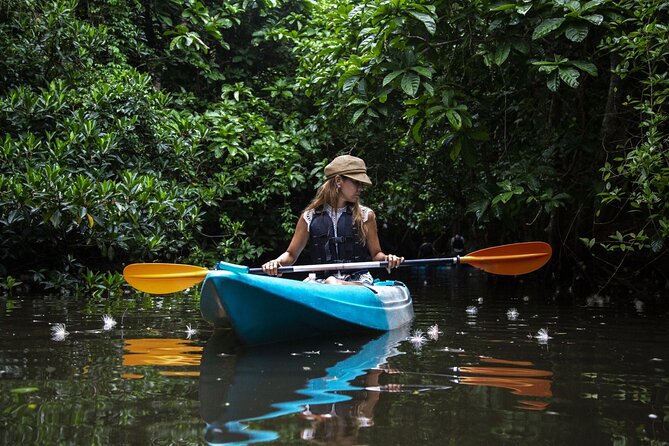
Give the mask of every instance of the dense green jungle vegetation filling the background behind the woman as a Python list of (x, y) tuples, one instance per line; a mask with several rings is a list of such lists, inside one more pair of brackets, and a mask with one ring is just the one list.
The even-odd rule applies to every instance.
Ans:
[(659, 0), (0, 1), (1, 286), (257, 264), (352, 153), (389, 250), (547, 240), (563, 283), (666, 289), (667, 23)]

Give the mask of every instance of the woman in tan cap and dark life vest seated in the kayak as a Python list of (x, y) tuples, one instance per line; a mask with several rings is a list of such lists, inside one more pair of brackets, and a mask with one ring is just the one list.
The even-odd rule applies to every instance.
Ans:
[[(342, 155), (325, 166), (325, 183), (300, 215), (293, 239), (275, 260), (265, 263), (266, 274), (276, 276), (278, 268), (295, 263), (302, 250), (310, 244), (314, 263), (387, 261), (388, 270), (397, 268), (404, 257), (385, 254), (381, 250), (374, 211), (360, 204), (365, 184), (372, 184), (367, 166), (360, 158)], [(343, 274), (341, 271), (323, 283), (340, 285), (371, 285), (369, 271)]]

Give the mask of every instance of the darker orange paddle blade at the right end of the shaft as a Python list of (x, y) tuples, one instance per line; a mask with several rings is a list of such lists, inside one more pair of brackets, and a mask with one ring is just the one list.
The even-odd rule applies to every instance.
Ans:
[(538, 270), (550, 260), (552, 253), (548, 243), (513, 243), (472, 252), (460, 257), (460, 262), (493, 274), (517, 276)]

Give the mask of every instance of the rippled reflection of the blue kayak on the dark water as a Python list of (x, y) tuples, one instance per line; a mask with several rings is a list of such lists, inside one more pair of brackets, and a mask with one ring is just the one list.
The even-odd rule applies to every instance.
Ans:
[[(230, 332), (214, 332), (200, 365), (200, 413), (207, 423), (206, 441), (252, 444), (276, 440), (277, 432), (253, 430), (248, 423), (295, 413), (312, 422), (312, 428), (301, 432), (303, 439), (319, 435), (319, 421), (336, 417), (338, 403), (379, 385), (381, 367), (389, 357), (400, 354), (397, 346), (408, 334), (407, 325), (380, 336), (241, 348)], [(371, 425), (371, 411), (378, 399), (378, 392), (366, 394), (366, 400), (356, 402), (354, 410), (360, 427)], [(327, 409), (321, 405), (328, 405)]]

